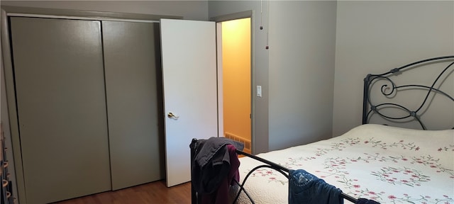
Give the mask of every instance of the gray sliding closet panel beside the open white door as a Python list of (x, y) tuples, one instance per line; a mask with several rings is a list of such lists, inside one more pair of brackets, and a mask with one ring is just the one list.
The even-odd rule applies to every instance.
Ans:
[(112, 189), (163, 179), (159, 25), (103, 21), (102, 28)]

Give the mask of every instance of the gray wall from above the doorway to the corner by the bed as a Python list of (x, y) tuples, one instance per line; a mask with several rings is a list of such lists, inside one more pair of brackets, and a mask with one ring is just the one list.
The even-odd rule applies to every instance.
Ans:
[(209, 17), (248, 10), (253, 84), (263, 91), (254, 99), (254, 153), (331, 137), (336, 1), (270, 1), (269, 9), (267, 1), (209, 1)]

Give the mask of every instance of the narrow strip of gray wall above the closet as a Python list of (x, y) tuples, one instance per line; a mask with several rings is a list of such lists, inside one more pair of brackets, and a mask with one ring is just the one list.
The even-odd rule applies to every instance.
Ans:
[(187, 20), (200, 21), (208, 19), (208, 1), (1, 1), (0, 5), (182, 16)]

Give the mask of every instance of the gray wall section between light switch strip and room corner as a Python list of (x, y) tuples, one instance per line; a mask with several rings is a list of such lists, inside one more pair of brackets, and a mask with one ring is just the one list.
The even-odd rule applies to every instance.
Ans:
[(272, 1), (270, 150), (331, 137), (336, 1)]

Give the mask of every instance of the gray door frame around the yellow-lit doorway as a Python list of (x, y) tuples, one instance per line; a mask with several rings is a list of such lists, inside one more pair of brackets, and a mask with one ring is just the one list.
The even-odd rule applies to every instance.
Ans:
[(216, 56), (217, 56), (217, 72), (218, 72), (218, 137), (223, 136), (223, 75), (222, 75), (222, 30), (221, 23), (223, 21), (232, 21), (240, 18), (250, 18), (250, 149), (252, 154), (255, 154), (255, 125), (254, 125), (254, 115), (255, 115), (255, 60), (254, 60), (254, 21), (253, 21), (253, 11), (242, 11), (238, 13), (230, 13), (222, 16), (214, 16), (210, 18), (210, 21), (216, 22)]

